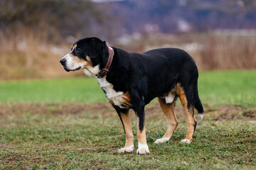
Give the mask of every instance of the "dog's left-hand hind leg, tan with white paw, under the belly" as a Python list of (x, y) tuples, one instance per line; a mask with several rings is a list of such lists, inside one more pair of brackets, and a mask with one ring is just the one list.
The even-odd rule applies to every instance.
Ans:
[(166, 103), (165, 98), (160, 98), (160, 97), (158, 98), (158, 101), (160, 103), (161, 109), (164, 112), (164, 115), (166, 116), (167, 130), (164, 136), (161, 139), (156, 140), (154, 144), (160, 144), (160, 143), (169, 141), (171, 138), (171, 135), (173, 135), (174, 130), (178, 125), (178, 120), (176, 118), (176, 115), (174, 114), (176, 97), (174, 98), (174, 101), (172, 101), (171, 103)]

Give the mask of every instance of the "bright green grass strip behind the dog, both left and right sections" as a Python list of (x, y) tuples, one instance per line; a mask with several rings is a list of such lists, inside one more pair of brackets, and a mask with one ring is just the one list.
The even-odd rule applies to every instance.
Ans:
[[(255, 106), (256, 70), (200, 72), (198, 90), (204, 105)], [(0, 82), (1, 103), (107, 102), (97, 79), (77, 77)]]

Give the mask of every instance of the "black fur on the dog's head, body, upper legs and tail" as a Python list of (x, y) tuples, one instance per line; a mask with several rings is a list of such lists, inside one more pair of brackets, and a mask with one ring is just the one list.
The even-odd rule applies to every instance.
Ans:
[[(100, 69), (105, 67), (108, 57), (105, 42), (98, 38), (85, 38), (75, 44), (79, 51), (75, 51), (74, 55), (81, 60), (89, 56), (94, 66), (99, 64)], [(114, 57), (106, 79), (115, 91), (129, 92), (131, 108), (137, 113), (140, 130), (144, 128), (144, 106), (156, 97), (169, 94), (178, 83), (185, 91), (188, 108), (195, 107), (199, 113), (203, 113), (198, 97), (198, 69), (187, 52), (177, 48), (161, 48), (139, 54), (112, 48)], [(114, 108), (118, 114), (122, 111), (118, 106)]]

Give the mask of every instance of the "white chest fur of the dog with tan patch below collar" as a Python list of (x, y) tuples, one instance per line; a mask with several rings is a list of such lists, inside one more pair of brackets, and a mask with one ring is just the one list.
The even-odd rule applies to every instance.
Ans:
[(114, 103), (115, 106), (119, 108), (129, 108), (129, 105), (126, 101), (129, 101), (129, 97), (124, 94), (122, 91), (115, 91), (113, 85), (107, 81), (106, 77), (102, 79), (97, 78), (100, 87), (105, 91), (105, 95), (110, 100), (111, 103)]

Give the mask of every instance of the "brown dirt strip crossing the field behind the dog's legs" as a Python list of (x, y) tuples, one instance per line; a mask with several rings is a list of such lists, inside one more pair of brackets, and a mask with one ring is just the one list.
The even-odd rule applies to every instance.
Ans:
[[(211, 120), (238, 120), (238, 119), (252, 119), (256, 118), (256, 106), (218, 106), (218, 107), (204, 107), (204, 114), (206, 118)], [(68, 114), (102, 114), (112, 115), (116, 114), (114, 108), (110, 103), (1, 103), (0, 116), (23, 115), (29, 113), (34, 114), (51, 114), (51, 115), (68, 115)], [(145, 109), (147, 118), (155, 118), (162, 114), (159, 103), (151, 103)], [(175, 108), (177, 117), (184, 117), (182, 106), (178, 105)], [(197, 113), (196, 113), (197, 115)], [(132, 117), (134, 114), (132, 114)]]

